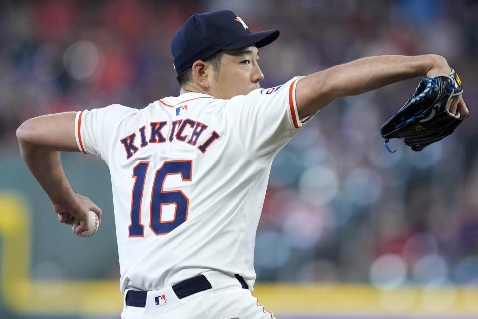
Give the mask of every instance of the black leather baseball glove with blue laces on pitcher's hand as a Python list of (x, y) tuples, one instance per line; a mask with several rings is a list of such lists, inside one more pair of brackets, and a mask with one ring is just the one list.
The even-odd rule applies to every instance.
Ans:
[[(385, 122), (380, 134), (388, 148), (390, 138), (403, 138), (413, 151), (421, 151), (427, 145), (453, 133), (467, 116), (452, 114), (448, 110), (450, 100), (463, 93), (462, 83), (454, 70), (447, 75), (424, 77), (415, 93), (405, 105)], [(468, 106), (467, 106), (468, 108)]]

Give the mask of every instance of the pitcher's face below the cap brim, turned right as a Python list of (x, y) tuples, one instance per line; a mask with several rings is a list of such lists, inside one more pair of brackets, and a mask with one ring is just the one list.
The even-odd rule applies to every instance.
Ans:
[(210, 82), (211, 95), (220, 99), (230, 99), (245, 95), (260, 88), (259, 81), (264, 74), (259, 67), (259, 50), (249, 46), (239, 50), (224, 51), (216, 76)]

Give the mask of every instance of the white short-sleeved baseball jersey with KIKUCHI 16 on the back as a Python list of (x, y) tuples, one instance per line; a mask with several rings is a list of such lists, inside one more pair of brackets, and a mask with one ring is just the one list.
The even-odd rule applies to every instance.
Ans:
[(210, 269), (253, 287), (272, 160), (309, 120), (299, 120), (298, 79), (230, 100), (185, 93), (77, 113), (79, 149), (110, 169), (123, 293)]

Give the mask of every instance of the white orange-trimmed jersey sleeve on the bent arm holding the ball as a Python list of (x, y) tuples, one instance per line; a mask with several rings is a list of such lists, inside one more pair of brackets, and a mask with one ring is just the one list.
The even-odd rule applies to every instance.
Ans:
[(92, 154), (106, 161), (119, 123), (137, 111), (120, 104), (112, 104), (100, 109), (77, 112), (75, 137), (78, 149), (84, 154)]

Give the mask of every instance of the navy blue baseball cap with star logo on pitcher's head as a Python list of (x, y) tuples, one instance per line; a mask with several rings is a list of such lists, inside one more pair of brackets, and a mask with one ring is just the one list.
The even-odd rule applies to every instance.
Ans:
[(193, 14), (176, 32), (171, 43), (174, 70), (179, 74), (197, 60), (205, 60), (220, 50), (252, 45), (260, 48), (278, 37), (277, 29), (250, 32), (244, 21), (231, 11)]

